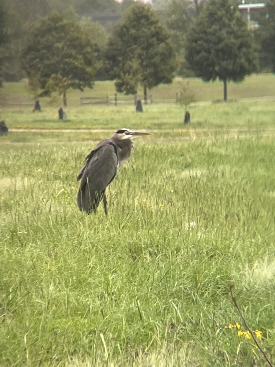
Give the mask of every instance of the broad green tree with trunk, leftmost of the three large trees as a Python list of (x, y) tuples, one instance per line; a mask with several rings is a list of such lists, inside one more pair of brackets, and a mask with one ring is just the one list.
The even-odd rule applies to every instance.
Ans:
[[(38, 75), (40, 87), (50, 93), (46, 85), (52, 75), (66, 78), (68, 88), (92, 88), (100, 63), (96, 61), (94, 44), (80, 26), (51, 13), (36, 23), (23, 52), (22, 65), (27, 76)], [(63, 97), (66, 105), (66, 92)]]

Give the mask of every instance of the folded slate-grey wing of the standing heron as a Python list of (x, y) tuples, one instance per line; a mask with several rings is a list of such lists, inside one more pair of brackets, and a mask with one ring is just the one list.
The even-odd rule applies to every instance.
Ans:
[(117, 166), (117, 150), (111, 141), (100, 142), (100, 146), (92, 150), (78, 175), (81, 178), (77, 198), (80, 210), (96, 210), (106, 187), (117, 173)]

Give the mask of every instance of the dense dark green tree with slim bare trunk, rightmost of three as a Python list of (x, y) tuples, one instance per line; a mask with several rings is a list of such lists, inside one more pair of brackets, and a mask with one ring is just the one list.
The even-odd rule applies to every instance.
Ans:
[(258, 55), (251, 32), (228, 0), (210, 0), (187, 33), (186, 60), (205, 81), (242, 81), (257, 69)]

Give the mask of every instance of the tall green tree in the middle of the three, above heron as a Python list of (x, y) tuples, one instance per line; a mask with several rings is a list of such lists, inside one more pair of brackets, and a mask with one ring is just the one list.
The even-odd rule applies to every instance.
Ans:
[(105, 68), (117, 79), (117, 91), (133, 94), (140, 85), (145, 100), (147, 88), (172, 82), (176, 63), (170, 34), (151, 6), (137, 2), (127, 9), (109, 38)]

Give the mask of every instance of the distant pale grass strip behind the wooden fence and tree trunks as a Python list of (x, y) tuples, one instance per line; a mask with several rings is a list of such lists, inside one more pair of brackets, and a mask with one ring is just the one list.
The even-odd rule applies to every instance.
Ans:
[[(153, 101), (168, 99), (176, 100), (176, 92), (179, 92), (182, 83), (189, 83), (188, 90), (195, 96), (197, 102), (201, 101), (221, 101), (223, 99), (223, 82), (217, 80), (215, 82), (205, 83), (199, 78), (180, 77), (174, 79), (171, 84), (160, 84), (148, 91), (148, 99), (153, 95)], [(242, 83), (228, 83), (228, 101), (238, 101), (243, 98), (261, 98), (275, 95), (275, 76), (272, 73), (253, 74), (246, 77)], [(69, 90), (67, 93), (68, 108), (80, 106), (80, 97), (106, 97), (109, 95), (114, 99), (115, 88), (114, 81), (95, 81), (92, 89), (85, 89), (84, 92), (77, 90)], [(0, 91), (1, 97), (29, 97), (32, 94), (27, 86), (27, 81), (22, 80), (20, 83), (4, 83), (3, 89)], [(142, 90), (138, 91), (138, 98), (143, 99)], [(124, 96), (118, 94), (118, 100), (133, 99), (133, 96)], [(49, 98), (40, 98), (42, 108), (47, 106)], [(62, 105), (62, 98), (54, 104), (55, 108)], [(32, 107), (29, 107), (31, 111)], [(57, 111), (56, 111), (57, 114)]]

